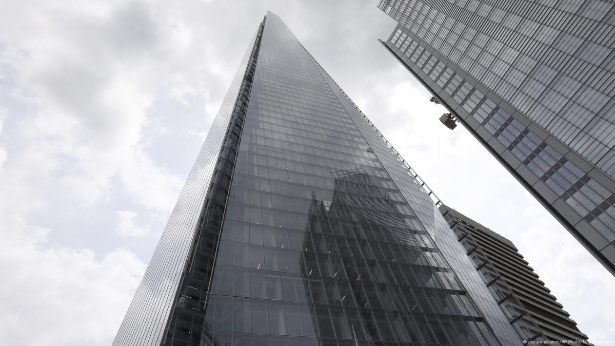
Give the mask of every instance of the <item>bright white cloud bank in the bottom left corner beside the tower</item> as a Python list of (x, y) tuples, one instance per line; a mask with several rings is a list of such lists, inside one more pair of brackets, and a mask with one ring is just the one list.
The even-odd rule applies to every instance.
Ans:
[(0, 345), (109, 342), (143, 263), (124, 249), (98, 257), (89, 249), (52, 246), (49, 230), (2, 217)]

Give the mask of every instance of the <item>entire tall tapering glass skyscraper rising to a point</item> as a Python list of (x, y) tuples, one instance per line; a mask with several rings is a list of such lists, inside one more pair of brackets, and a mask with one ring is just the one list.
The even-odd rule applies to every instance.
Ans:
[(520, 344), (430, 195), (269, 12), (113, 345)]

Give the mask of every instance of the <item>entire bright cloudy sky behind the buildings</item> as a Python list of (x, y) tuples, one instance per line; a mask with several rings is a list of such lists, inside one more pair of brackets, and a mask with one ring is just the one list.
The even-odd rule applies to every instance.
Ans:
[(376, 0), (0, 1), (0, 345), (109, 345), (266, 10), (590, 340), (615, 278), (376, 41)]

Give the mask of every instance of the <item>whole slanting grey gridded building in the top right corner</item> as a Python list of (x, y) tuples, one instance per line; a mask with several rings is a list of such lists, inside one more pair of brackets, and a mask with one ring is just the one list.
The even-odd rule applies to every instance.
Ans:
[(382, 42), (615, 275), (615, 7), (382, 0)]

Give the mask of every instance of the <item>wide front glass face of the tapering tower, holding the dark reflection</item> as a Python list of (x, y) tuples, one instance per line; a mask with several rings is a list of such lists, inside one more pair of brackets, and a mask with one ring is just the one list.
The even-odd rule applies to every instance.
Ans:
[(194, 254), (213, 277), (186, 273), (164, 344), (498, 345), (434, 209), (268, 13), (218, 246)]

